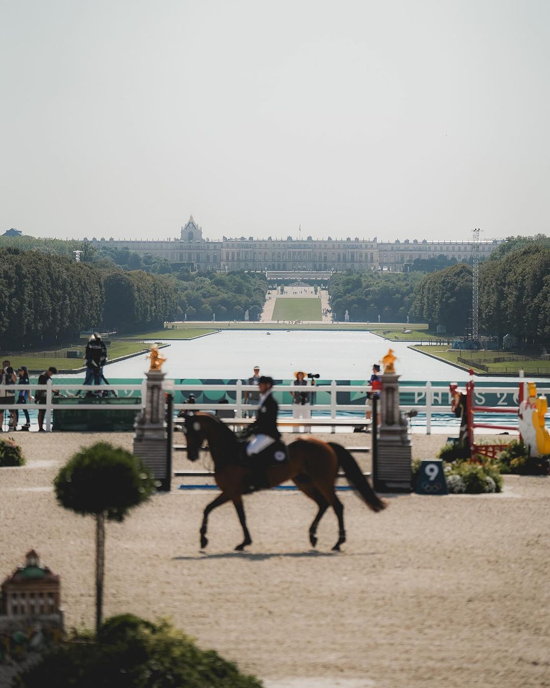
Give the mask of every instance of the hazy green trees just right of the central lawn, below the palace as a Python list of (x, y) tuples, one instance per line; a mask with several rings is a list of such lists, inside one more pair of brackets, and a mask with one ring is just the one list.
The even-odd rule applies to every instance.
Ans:
[(329, 297), (336, 319), (404, 323), (412, 293), (423, 275), (417, 272), (335, 272), (329, 280)]

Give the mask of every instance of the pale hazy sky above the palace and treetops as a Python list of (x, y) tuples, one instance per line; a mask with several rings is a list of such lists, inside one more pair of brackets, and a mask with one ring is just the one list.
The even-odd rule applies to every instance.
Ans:
[(0, 0), (0, 232), (547, 232), (548, 0)]

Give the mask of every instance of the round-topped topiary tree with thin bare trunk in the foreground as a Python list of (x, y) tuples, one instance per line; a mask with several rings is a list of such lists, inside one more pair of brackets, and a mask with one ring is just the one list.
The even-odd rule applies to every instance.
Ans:
[(96, 517), (96, 630), (102, 619), (105, 519), (122, 522), (154, 489), (151, 471), (142, 461), (108, 442), (79, 451), (56, 475), (54, 490), (61, 506)]

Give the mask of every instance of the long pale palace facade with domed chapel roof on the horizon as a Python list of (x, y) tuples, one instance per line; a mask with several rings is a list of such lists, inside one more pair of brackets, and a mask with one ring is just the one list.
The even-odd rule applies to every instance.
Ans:
[[(473, 241), (377, 241), (346, 239), (204, 239), (201, 226), (192, 215), (173, 239), (91, 239), (97, 248), (127, 248), (140, 255), (151, 253), (170, 263), (190, 264), (193, 269), (208, 270), (391, 270), (402, 272), (416, 258), (428, 259), (440, 254), (457, 261), (470, 258)], [(500, 241), (480, 241), (480, 258), (487, 257)]]

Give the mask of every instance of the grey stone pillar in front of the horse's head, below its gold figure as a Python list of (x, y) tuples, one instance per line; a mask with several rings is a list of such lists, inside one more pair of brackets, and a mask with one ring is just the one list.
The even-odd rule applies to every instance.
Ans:
[[(160, 482), (158, 490), (170, 490), (170, 454), (166, 403), (162, 382), (165, 373), (159, 370), (146, 372), (147, 388), (145, 407), (135, 421), (133, 453), (148, 466)], [(171, 420), (171, 419), (170, 419)]]

